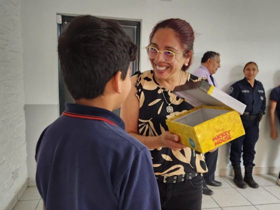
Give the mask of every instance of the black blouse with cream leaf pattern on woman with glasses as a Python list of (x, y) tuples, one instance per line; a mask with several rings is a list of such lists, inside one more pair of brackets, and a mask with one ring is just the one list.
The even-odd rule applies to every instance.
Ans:
[[(163, 98), (153, 71), (137, 71), (135, 87), (139, 100), (138, 133), (145, 136), (157, 136), (168, 130), (165, 119), (193, 108), (183, 98), (175, 96), (170, 90), (161, 87), (167, 102), (172, 101), (173, 112), (168, 113), (168, 104)], [(200, 81), (202, 78), (188, 73), (187, 81)], [(174, 98), (176, 97), (176, 98)], [(174, 99), (173, 99), (174, 98)], [(203, 154), (189, 147), (174, 151), (167, 147), (152, 149), (153, 170), (155, 175), (180, 175), (189, 172), (206, 172), (207, 167)]]

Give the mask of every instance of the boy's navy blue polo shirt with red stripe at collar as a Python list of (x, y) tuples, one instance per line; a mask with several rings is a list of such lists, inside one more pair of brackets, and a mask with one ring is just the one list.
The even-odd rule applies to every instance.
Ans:
[(36, 145), (36, 184), (51, 209), (160, 209), (149, 150), (113, 112), (66, 104)]

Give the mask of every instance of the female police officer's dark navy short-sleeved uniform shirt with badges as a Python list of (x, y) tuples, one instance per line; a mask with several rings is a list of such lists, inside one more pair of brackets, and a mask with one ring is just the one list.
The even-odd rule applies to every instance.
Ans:
[(254, 80), (253, 87), (244, 77), (228, 89), (228, 94), (246, 105), (245, 111), (254, 115), (265, 111), (265, 92), (260, 81)]

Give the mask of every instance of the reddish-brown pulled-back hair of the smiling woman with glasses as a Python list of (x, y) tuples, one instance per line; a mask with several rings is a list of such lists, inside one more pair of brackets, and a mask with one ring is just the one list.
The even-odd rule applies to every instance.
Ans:
[(159, 21), (152, 28), (152, 31), (149, 35), (149, 42), (151, 42), (154, 33), (159, 28), (171, 28), (175, 32), (175, 35), (179, 38), (182, 46), (184, 47), (184, 50), (186, 51), (183, 53), (183, 55), (185, 57), (189, 56), (188, 65), (187, 66), (183, 65), (181, 67), (181, 69), (185, 71), (186, 69), (189, 68), (192, 62), (193, 41), (194, 41), (194, 32), (192, 27), (188, 22), (179, 18), (170, 18), (170, 19)]

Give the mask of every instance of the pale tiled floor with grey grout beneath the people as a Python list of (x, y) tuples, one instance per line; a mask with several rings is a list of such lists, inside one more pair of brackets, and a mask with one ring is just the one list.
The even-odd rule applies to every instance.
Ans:
[[(276, 184), (277, 174), (254, 175), (259, 184), (257, 189), (235, 186), (232, 176), (217, 176), (222, 182), (219, 187), (209, 186), (214, 194), (203, 195), (202, 209), (210, 210), (279, 210), (280, 186)], [(13, 210), (41, 210), (42, 200), (35, 186), (28, 187)], [(175, 210), (175, 209), (174, 209)]]

